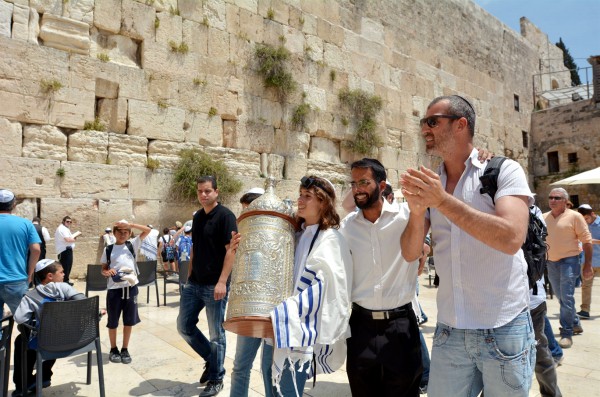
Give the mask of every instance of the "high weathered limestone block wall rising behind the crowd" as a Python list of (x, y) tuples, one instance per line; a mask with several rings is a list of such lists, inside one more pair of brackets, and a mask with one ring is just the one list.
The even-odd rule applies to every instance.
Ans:
[[(292, 53), (298, 90), (286, 100), (255, 72), (262, 42)], [(182, 43), (187, 52), (172, 51)], [(344, 145), (354, 123), (344, 122), (343, 88), (383, 99), (373, 156), (394, 184), (430, 162), (418, 120), (444, 94), (472, 99), (477, 145), (527, 166), (521, 131), (539, 48), (470, 0), (0, 0), (0, 185), (52, 231), (73, 217), (81, 274), (111, 222), (191, 216), (197, 203), (168, 195), (182, 148), (222, 159), (244, 189), (270, 173), (293, 198), (314, 173), (342, 193), (345, 163), (361, 157)], [(303, 101), (311, 111), (294, 128)], [(84, 130), (95, 119), (106, 131)], [(159, 169), (145, 168), (148, 158)], [(226, 204), (239, 211), (235, 198)]]

